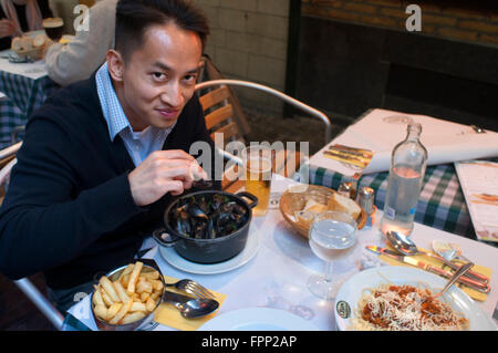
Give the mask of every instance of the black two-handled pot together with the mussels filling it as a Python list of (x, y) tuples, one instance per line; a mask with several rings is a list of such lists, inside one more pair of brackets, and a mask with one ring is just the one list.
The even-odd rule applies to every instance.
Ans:
[(165, 228), (156, 230), (154, 238), (160, 246), (173, 247), (194, 262), (225, 261), (243, 250), (252, 208), (257, 204), (258, 199), (249, 193), (203, 190), (187, 194), (168, 206)]

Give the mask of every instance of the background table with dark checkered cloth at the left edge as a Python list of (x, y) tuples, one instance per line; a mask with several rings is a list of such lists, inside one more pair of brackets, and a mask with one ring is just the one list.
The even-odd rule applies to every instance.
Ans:
[(7, 95), (9, 104), (15, 106), (18, 112), (15, 112), (15, 117), (9, 114), (2, 115), (2, 131), (19, 123), (19, 112), (22, 118), (20, 125), (24, 125), (33, 111), (45, 101), (54, 89), (59, 87), (49, 77), (43, 60), (12, 63), (8, 59), (11, 53), (10, 50), (0, 52), (0, 92)]

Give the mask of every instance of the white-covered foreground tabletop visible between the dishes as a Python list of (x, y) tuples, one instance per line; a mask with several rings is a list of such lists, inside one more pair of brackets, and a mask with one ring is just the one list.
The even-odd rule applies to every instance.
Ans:
[[(291, 179), (273, 176), (271, 199), (278, 200), (281, 193), (292, 183), (294, 181)], [(322, 272), (324, 263), (313, 255), (308, 239), (299, 236), (284, 220), (276, 201), (272, 203), (266, 217), (252, 219), (249, 237), (257, 237), (256, 239), (259, 240), (259, 248), (255, 257), (243, 266), (224, 273), (198, 274), (173, 267), (162, 257), (157, 246), (144, 258), (155, 259), (165, 276), (178, 279), (189, 278), (226, 294), (227, 298), (216, 316), (245, 308), (273, 308), (304, 318), (318, 331), (335, 330), (334, 302), (313, 295), (307, 287), (308, 278), (313, 273)], [(498, 262), (496, 261), (498, 249), (421, 224), (415, 224), (412, 238), (417, 246), (426, 249), (430, 248), (433, 239), (458, 242), (468, 258), (490, 268), (492, 270), (490, 285), (494, 290), (488, 294), (486, 301), (476, 303), (486, 314), (492, 315), (498, 300), (496, 290), (498, 285)], [(347, 260), (338, 262), (334, 271), (342, 278), (349, 278), (372, 263), (375, 263), (374, 267), (384, 266), (385, 263), (376, 257), (372, 260), (372, 255), (365, 250), (366, 245), (383, 243), (385, 240), (378, 231), (378, 218), (376, 218), (372, 228), (365, 228), (357, 232), (357, 242), (353, 253)], [(91, 330), (96, 330), (90, 312), (90, 297), (85, 297), (73, 305), (70, 313)], [(299, 329), (295, 328), (295, 330)], [(170, 331), (174, 329), (159, 324), (154, 330)], [(230, 328), (227, 326), (225, 330), (230, 330)]]

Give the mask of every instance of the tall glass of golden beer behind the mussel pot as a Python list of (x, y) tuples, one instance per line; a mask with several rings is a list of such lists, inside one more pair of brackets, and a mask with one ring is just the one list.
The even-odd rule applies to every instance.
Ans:
[(252, 209), (255, 217), (267, 215), (270, 203), (272, 152), (269, 147), (251, 145), (242, 150), (246, 173), (246, 191), (258, 198), (258, 206)]

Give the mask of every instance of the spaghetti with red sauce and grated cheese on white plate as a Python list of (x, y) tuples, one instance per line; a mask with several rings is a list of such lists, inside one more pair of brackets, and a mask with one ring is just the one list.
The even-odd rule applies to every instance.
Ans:
[(353, 330), (435, 331), (468, 330), (469, 322), (447, 303), (432, 298), (428, 289), (381, 284), (365, 289)]

